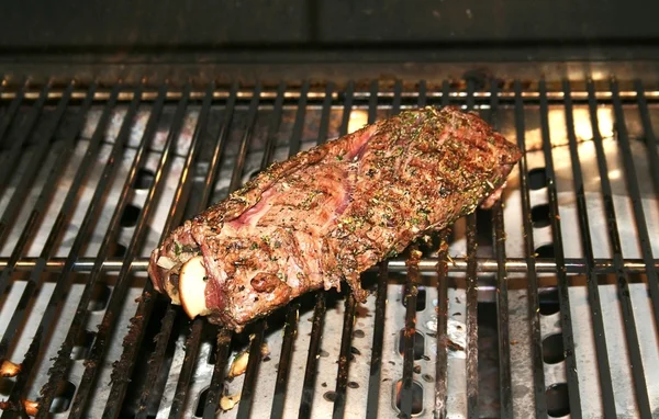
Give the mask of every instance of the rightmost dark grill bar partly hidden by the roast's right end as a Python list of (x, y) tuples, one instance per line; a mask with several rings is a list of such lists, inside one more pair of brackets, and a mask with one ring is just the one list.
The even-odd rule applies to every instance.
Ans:
[[(490, 95), (490, 124), (499, 129), (499, 87), (496, 81), (491, 83)], [(505, 227), (503, 218), (503, 203), (498, 201), (492, 208), (492, 225), (494, 226), (494, 253), (496, 257), (496, 328), (499, 343), (499, 394), (501, 405), (501, 417), (513, 418), (513, 384), (511, 375), (511, 339), (509, 328), (509, 287), (507, 272), (505, 270)]]

